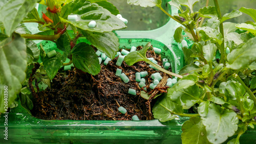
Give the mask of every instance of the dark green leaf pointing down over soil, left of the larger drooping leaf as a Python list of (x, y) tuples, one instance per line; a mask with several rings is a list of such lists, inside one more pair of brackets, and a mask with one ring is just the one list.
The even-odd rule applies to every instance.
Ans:
[(57, 55), (51, 58), (49, 58), (48, 55), (46, 55), (44, 61), (42, 61), (42, 64), (44, 64), (44, 69), (46, 70), (46, 73), (50, 80), (52, 80), (55, 77), (60, 66), (63, 64), (63, 62), (66, 61), (66, 58), (66, 55), (61, 55), (58, 52)]

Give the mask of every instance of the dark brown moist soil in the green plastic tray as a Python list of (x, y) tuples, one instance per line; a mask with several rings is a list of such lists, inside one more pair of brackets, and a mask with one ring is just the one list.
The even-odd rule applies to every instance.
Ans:
[[(138, 46), (137, 50), (140, 49), (142, 47)], [(162, 65), (161, 57), (153, 51), (148, 51), (147, 57), (155, 57), (158, 64)], [(144, 61), (133, 66), (123, 62), (122, 67), (117, 66), (116, 61), (117, 58), (108, 65), (102, 62), (101, 71), (97, 76), (79, 76), (75, 68), (58, 73), (52, 80), (51, 89), (47, 88), (34, 94), (32, 114), (40, 119), (62, 120), (132, 120), (133, 115), (137, 115), (140, 120), (152, 119), (153, 116), (148, 110), (149, 107), (152, 108), (155, 100), (148, 105), (147, 100), (140, 96), (141, 88), (135, 81), (135, 73), (145, 70), (148, 72), (148, 76), (144, 77), (148, 92), (152, 90), (149, 88), (152, 83), (151, 74), (159, 72), (163, 76), (163, 73), (150, 68)], [(122, 69), (122, 73), (129, 77), (130, 82), (125, 84), (115, 75), (117, 68)], [(136, 89), (137, 95), (129, 94), (129, 88)], [(157, 89), (154, 91), (158, 92)], [(118, 111), (120, 106), (127, 110), (125, 114)]]

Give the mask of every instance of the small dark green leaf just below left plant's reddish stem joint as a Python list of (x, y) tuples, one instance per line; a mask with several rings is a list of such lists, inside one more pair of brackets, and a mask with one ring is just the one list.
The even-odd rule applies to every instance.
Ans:
[(67, 33), (61, 35), (56, 42), (57, 48), (63, 52), (70, 53), (71, 46)]

